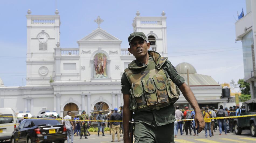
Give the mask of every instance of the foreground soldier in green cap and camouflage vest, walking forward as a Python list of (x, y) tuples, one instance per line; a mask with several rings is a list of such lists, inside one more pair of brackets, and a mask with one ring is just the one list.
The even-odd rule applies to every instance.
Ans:
[[(129, 120), (132, 118), (134, 143), (173, 143), (173, 103), (179, 98), (179, 89), (195, 109), (196, 127), (199, 126), (201, 132), (205, 122), (194, 94), (166, 57), (161, 57), (155, 51), (148, 51), (150, 43), (146, 39), (142, 32), (133, 32), (128, 37), (128, 51), (136, 60), (124, 70), (121, 79), (124, 143), (129, 142)], [(167, 134), (170, 136), (166, 136)]]

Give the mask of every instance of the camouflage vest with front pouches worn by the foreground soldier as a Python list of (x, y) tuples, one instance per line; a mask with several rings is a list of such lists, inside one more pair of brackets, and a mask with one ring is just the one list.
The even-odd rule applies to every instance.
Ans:
[(153, 60), (145, 66), (137, 66), (135, 61), (124, 70), (131, 84), (130, 110), (133, 112), (158, 110), (175, 103), (179, 98), (177, 85), (167, 77), (162, 70), (162, 65), (168, 58), (149, 51)]

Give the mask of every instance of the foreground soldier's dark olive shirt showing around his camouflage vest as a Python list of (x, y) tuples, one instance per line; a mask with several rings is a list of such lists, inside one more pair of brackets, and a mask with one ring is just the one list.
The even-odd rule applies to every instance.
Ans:
[[(149, 56), (149, 60), (153, 60), (151, 56)], [(139, 61), (136, 60), (136, 64), (138, 66), (144, 66), (144, 63), (140, 63)], [(175, 67), (171, 64), (169, 60), (167, 60), (164, 65), (162, 66), (162, 69), (167, 77), (170, 77), (171, 80), (177, 85), (180, 86), (182, 85), (185, 80), (183, 77), (181, 77)], [(131, 85), (125, 75), (123, 73), (122, 78), (121, 78), (121, 85), (122, 85), (122, 93), (123, 94), (129, 94), (130, 95), (130, 89)], [(155, 122), (157, 126), (162, 126), (166, 125), (169, 123), (172, 123), (175, 120), (175, 108), (173, 104), (170, 104), (167, 107), (161, 108), (160, 110), (152, 110), (152, 111), (141, 111), (138, 113), (134, 113), (132, 118), (134, 121), (142, 121), (148, 125), (151, 125), (153, 119), (155, 119)]]

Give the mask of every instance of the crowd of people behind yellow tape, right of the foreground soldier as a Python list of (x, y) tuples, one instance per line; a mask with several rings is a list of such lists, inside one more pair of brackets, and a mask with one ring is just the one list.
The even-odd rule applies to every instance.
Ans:
[[(176, 121), (174, 122), (174, 137), (177, 137), (178, 130), (180, 130), (180, 135), (183, 135), (184, 131), (186, 135), (192, 136), (192, 130), (194, 132), (193, 136), (199, 136), (198, 128), (195, 126), (195, 121), (192, 119), (195, 119), (195, 111), (193, 109), (189, 110), (189, 107), (187, 105), (184, 106), (185, 109), (180, 108), (179, 106), (176, 107), (175, 111), (175, 118)], [(210, 119), (215, 117), (227, 117), (227, 116), (240, 116), (241, 112), (245, 112), (245, 106), (242, 106), (239, 108), (239, 106), (233, 106), (223, 108), (222, 105), (220, 105), (219, 109), (215, 109), (213, 106), (205, 106), (202, 107), (202, 115), (205, 121), (205, 137), (208, 136), (207, 131), (209, 131), (209, 137), (214, 136), (214, 133), (216, 132), (217, 128), (219, 128), (219, 135), (222, 135), (222, 131), (224, 131), (225, 134), (227, 133), (233, 133), (234, 132), (234, 125), (233, 125), (233, 119)], [(191, 119), (187, 121), (182, 121), (182, 119)]]

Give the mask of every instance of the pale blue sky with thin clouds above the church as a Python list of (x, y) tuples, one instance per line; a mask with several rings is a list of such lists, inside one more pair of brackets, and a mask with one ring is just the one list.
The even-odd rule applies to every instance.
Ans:
[(237, 12), (243, 8), (246, 13), (245, 0), (57, 0), (57, 5), (55, 0), (1, 0), (0, 78), (5, 86), (26, 83), (27, 10), (32, 15), (54, 15), (56, 7), (61, 16), (62, 48), (77, 48), (77, 41), (97, 28), (97, 16), (104, 20), (101, 28), (122, 40), (121, 48), (127, 48), (137, 10), (140, 16), (161, 16), (165, 11), (168, 59), (174, 66), (188, 62), (197, 73), (212, 76), (219, 84), (244, 78), (242, 43), (235, 41), (235, 22)]

